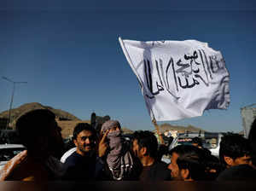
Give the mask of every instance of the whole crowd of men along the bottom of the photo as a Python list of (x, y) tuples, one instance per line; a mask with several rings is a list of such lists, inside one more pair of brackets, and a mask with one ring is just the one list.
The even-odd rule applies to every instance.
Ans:
[[(253, 181), (256, 178), (256, 119), (248, 139), (234, 133), (222, 137), (219, 157), (203, 148), (198, 137), (191, 145), (179, 145), (172, 150), (160, 145), (148, 130), (137, 130), (126, 140), (119, 121), (110, 119), (100, 129), (92, 124), (77, 124), (73, 130), (75, 148), (67, 154), (55, 114), (46, 109), (21, 116), (16, 130), (26, 150), (3, 167), (1, 181)], [(163, 154), (171, 156), (170, 164), (161, 160)]]

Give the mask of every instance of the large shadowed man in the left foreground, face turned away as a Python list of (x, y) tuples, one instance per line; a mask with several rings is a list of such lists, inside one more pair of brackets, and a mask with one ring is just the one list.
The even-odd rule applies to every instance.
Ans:
[(60, 157), (63, 141), (55, 114), (47, 109), (22, 115), (16, 130), (26, 150), (17, 154), (0, 171), (0, 180), (49, 181), (61, 179), (65, 168)]

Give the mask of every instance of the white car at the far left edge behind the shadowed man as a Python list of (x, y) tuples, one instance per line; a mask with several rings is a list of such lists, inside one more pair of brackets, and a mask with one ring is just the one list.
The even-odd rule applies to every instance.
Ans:
[(0, 170), (9, 159), (14, 158), (16, 154), (25, 149), (26, 148), (21, 144), (0, 144)]

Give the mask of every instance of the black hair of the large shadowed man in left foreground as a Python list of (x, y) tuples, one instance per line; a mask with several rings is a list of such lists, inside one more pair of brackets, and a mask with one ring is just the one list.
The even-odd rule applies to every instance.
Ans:
[(30, 148), (38, 136), (49, 135), (49, 123), (55, 120), (55, 113), (48, 109), (36, 109), (20, 116), (16, 122), (16, 131), (20, 142)]

